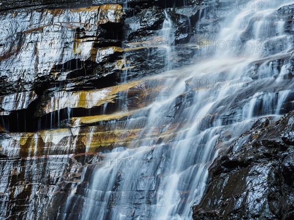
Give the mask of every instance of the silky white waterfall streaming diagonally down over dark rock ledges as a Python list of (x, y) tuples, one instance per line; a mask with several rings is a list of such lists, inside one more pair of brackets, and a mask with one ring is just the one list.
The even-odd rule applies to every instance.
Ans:
[[(250, 121), (278, 119), (293, 93), (293, 81), (283, 81), (293, 38), (284, 21), (274, 19), (278, 8), (293, 1), (266, 1), (260, 11), (249, 3), (227, 12), (215, 43), (203, 47), (195, 65), (153, 78), (164, 79), (165, 89), (142, 110), (148, 112), (146, 126), (128, 148), (101, 152), (97, 163), (84, 168), (82, 176), (89, 178), (74, 189), (60, 219), (191, 219), (219, 151), (250, 129)], [(171, 33), (166, 14), (162, 35), (169, 39)], [(278, 67), (282, 57), (288, 58)]]

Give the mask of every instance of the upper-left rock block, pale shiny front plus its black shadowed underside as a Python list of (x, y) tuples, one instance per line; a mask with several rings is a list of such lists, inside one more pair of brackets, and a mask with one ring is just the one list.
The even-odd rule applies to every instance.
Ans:
[[(123, 52), (117, 34), (124, 21), (122, 6), (32, 10), (20, 3), (20, 7), (24, 9), (0, 16), (1, 115), (13, 112), (11, 118), (29, 121), (50, 88), (61, 90), (70, 84), (79, 90), (116, 83)], [(9, 130), (7, 123), (3, 127)]]

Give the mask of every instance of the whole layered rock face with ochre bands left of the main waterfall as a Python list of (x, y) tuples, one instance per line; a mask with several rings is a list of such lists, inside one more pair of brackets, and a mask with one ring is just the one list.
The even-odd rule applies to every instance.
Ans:
[[(178, 8), (167, 14), (181, 20), (187, 43), (195, 3), (0, 2), (0, 219), (57, 217), (98, 152), (128, 146), (146, 128), (148, 110), (137, 110), (164, 87), (148, 77), (165, 70), (165, 47), (182, 38), (179, 30), (160, 37), (164, 11)], [(194, 12), (184, 13), (184, 4)], [(196, 53), (176, 50), (171, 59), (181, 62), (174, 66)], [(128, 118), (140, 120), (126, 128)], [(174, 128), (162, 136), (172, 138)]]

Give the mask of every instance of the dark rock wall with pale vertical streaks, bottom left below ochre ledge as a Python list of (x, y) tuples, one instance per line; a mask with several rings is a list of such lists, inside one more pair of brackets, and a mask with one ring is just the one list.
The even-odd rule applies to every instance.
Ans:
[(6, 210), (0, 213), (0, 218), (39, 219), (54, 195), (57, 174), (68, 162), (66, 157), (0, 159), (0, 207)]

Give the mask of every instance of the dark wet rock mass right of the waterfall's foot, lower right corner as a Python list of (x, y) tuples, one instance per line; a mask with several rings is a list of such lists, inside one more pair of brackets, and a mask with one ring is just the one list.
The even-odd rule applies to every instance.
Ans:
[(239, 150), (231, 146), (214, 161), (193, 219), (294, 218), (294, 111), (273, 125), (269, 121), (259, 119), (236, 141), (249, 135)]

